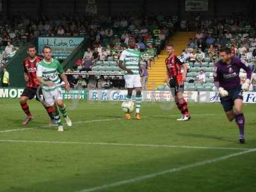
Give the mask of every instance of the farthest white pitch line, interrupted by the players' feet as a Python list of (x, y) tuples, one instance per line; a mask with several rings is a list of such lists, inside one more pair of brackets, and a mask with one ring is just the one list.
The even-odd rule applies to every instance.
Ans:
[[(207, 115), (216, 115), (216, 114), (195, 114), (195, 115), (200, 115), (200, 116), (207, 116)], [(168, 116), (178, 116), (178, 115), (168, 115)], [(143, 118), (150, 118), (150, 117), (168, 117), (168, 116), (161, 116), (161, 115), (152, 115), (152, 116), (143, 116)], [(193, 115), (194, 116), (194, 115)], [(81, 121), (81, 122), (72, 122), (72, 124), (88, 124), (88, 123), (93, 123), (93, 122), (109, 122), (109, 121), (113, 121), (113, 120), (124, 120), (124, 118), (109, 118), (109, 119), (99, 119), (99, 120), (87, 120), (87, 121)], [(24, 127), (24, 128), (20, 128), (20, 129), (6, 129), (3, 131), (0, 131), (0, 133), (2, 132), (14, 132), (14, 131), (26, 131), (26, 130), (30, 130), (30, 129), (36, 129), (36, 128), (45, 128), (45, 127), (49, 127), (48, 125), (43, 125), (43, 126), (38, 126), (38, 127)]]

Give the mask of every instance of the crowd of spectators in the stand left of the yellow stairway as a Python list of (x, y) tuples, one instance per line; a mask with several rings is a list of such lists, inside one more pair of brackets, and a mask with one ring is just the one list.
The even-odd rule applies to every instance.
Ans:
[(29, 18), (24, 14), (6, 17), (0, 21), (0, 67), (36, 36), (87, 36), (93, 48), (84, 54), (81, 63), (82, 70), (88, 71), (97, 61), (117, 61), (132, 36), (138, 42), (136, 49), (141, 51), (141, 60), (150, 68), (156, 51), (175, 24), (177, 17), (163, 15), (92, 17), (63, 13), (56, 17), (40, 15)]

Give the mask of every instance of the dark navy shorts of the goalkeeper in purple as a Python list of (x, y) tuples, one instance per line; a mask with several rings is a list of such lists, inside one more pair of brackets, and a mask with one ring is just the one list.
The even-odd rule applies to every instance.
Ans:
[(231, 111), (234, 106), (234, 100), (242, 99), (243, 100), (243, 90), (241, 89), (241, 85), (237, 86), (232, 90), (227, 90), (227, 97), (220, 97), (221, 104), (224, 108), (224, 111)]

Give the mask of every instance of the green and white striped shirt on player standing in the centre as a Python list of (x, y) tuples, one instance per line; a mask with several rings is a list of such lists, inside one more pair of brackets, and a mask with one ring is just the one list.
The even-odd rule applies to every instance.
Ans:
[[(130, 68), (134, 75), (140, 74), (140, 51), (125, 49), (120, 56), (120, 61), (124, 61), (124, 66)], [(125, 72), (125, 74), (128, 73)]]

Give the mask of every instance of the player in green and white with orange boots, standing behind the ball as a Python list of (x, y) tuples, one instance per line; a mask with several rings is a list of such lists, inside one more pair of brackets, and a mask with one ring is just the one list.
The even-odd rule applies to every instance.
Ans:
[[(125, 70), (125, 87), (128, 90), (127, 99), (132, 99), (132, 90), (136, 90), (136, 120), (140, 120), (140, 108), (141, 108), (141, 65), (140, 65), (140, 51), (135, 50), (136, 42), (134, 38), (129, 38), (129, 48), (125, 49), (118, 62), (118, 66)], [(129, 113), (125, 113), (127, 120), (131, 119)]]

